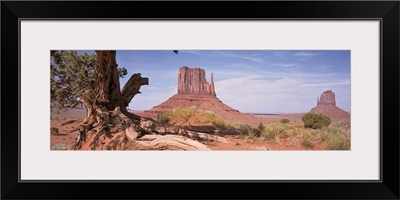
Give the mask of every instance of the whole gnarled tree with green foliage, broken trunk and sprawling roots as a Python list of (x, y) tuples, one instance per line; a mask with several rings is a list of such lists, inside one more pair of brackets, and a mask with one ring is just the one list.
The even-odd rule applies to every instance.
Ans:
[[(96, 55), (97, 54), (97, 55)], [(51, 51), (51, 98), (60, 105), (83, 103), (86, 117), (75, 149), (182, 149), (208, 150), (191, 140), (225, 139), (205, 133), (168, 127), (126, 110), (148, 78), (133, 74), (120, 89), (119, 78), (127, 74), (118, 68), (116, 51), (78, 55), (75, 51)], [(172, 135), (170, 135), (172, 134)]]

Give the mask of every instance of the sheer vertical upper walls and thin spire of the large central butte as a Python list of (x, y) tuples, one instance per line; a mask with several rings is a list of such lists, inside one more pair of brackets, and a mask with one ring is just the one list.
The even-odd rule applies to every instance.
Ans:
[(208, 83), (204, 69), (181, 67), (178, 73), (178, 94), (216, 96), (213, 74), (211, 74), (211, 83)]

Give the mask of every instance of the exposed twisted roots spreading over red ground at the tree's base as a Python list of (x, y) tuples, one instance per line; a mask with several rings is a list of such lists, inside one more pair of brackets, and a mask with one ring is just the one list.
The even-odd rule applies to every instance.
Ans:
[[(80, 128), (75, 149), (81, 150), (210, 150), (201, 141), (229, 140), (207, 133), (165, 126), (155, 120), (131, 119), (119, 110), (99, 117), (98, 127)], [(108, 121), (108, 123), (106, 123)]]

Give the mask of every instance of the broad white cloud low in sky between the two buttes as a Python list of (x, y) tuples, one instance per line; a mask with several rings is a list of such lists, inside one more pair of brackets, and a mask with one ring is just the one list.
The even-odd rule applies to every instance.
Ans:
[[(217, 81), (215, 85), (217, 97), (241, 112), (308, 112), (316, 105), (317, 97), (327, 89), (343, 95), (337, 99), (344, 102), (341, 105), (349, 104), (349, 96), (343, 94), (343, 91), (349, 91), (349, 81), (326, 83), (323, 77), (320, 78), (312, 80), (316, 83), (309, 83), (307, 78), (286, 76), (269, 80), (263, 75), (246, 75)], [(343, 109), (348, 110), (346, 107)]]

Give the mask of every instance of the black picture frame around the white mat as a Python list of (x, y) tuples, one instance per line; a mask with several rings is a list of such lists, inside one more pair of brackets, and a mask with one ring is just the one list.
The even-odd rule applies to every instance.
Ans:
[[(161, 8), (163, 11), (159, 11)], [(211, 182), (140, 183), (18, 182), (20, 77), (19, 19), (380, 19), (381, 182)], [(1, 2), (1, 198), (3, 199), (399, 199), (399, 2)], [(13, 83), (13, 84), (12, 84)], [(10, 86), (13, 87), (10, 87)], [(15, 87), (18, 85), (18, 88)], [(18, 98), (15, 98), (17, 97)], [(15, 112), (18, 108), (18, 113)], [(18, 118), (19, 119), (19, 118)], [(384, 123), (383, 123), (384, 122)], [(17, 124), (11, 126), (11, 124)], [(171, 188), (168, 187), (172, 186)], [(226, 186), (228, 191), (222, 186)], [(124, 189), (125, 188), (125, 189)], [(144, 192), (152, 188), (153, 193)], [(192, 195), (187, 196), (188, 191)]]

